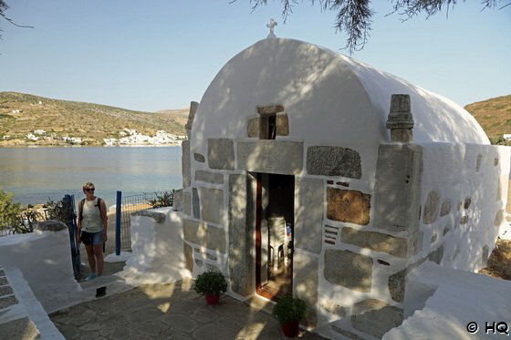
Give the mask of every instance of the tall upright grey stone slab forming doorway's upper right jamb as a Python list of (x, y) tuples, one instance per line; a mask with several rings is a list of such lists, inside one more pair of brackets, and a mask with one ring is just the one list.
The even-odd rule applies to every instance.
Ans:
[(324, 211), (323, 180), (296, 179), (295, 247), (308, 252), (321, 252), (321, 229)]

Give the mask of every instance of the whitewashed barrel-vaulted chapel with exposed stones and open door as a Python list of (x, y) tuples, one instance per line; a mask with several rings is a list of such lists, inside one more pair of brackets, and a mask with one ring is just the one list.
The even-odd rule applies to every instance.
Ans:
[(320, 46), (249, 46), (187, 129), (187, 268), (222, 271), (240, 299), (293, 294), (323, 335), (401, 325), (407, 274), (480, 269), (503, 223), (509, 149), (453, 101)]

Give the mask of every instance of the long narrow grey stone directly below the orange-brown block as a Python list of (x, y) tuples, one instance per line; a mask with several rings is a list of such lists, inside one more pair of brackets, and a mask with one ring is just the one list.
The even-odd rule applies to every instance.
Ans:
[(375, 252), (387, 252), (393, 256), (405, 258), (408, 254), (406, 239), (394, 237), (381, 232), (361, 232), (344, 227), (340, 232), (340, 241), (354, 244), (360, 248), (368, 248)]

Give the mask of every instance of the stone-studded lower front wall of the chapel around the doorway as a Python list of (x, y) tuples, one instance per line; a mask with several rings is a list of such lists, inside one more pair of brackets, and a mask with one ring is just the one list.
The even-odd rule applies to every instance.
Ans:
[[(405, 266), (397, 263), (421, 249), (422, 234), (391, 230), (395, 223), (386, 222), (391, 217), (381, 219), (375, 211), (402, 211), (391, 211), (377, 197), (397, 191), (401, 203), (414, 199), (400, 184), (408, 180), (411, 186), (420, 185), (421, 149), (382, 147), (383, 151), (375, 149), (365, 159), (360, 150), (349, 146), (286, 140), (293, 131), (287, 116), (281, 119), (288, 136), (254, 140), (260, 127), (258, 119), (251, 118), (246, 122), (246, 140), (208, 139), (207, 149), (190, 150), (190, 189), (183, 191), (183, 213), (188, 215), (183, 220), (186, 267), (194, 275), (219, 269), (229, 278), (232, 294), (254, 294), (255, 202), (251, 200), (255, 184), (247, 174), (294, 175), (293, 294), (308, 305), (304, 325), (315, 328), (337, 320), (341, 324), (334, 324), (340, 332), (379, 335), (400, 320), (405, 284), (397, 273)], [(402, 178), (395, 180), (395, 172), (389, 170), (376, 179), (376, 185), (368, 185), (375, 182), (375, 170), (363, 167), (369, 160), (400, 170)], [(403, 165), (407, 170), (401, 170)], [(413, 209), (405, 212), (412, 216)], [(410, 227), (409, 220), (401, 219), (400, 226)], [(411, 229), (418, 224), (413, 223)], [(389, 320), (381, 316), (388, 311), (394, 315)], [(368, 332), (360, 330), (373, 314), (379, 324)]]

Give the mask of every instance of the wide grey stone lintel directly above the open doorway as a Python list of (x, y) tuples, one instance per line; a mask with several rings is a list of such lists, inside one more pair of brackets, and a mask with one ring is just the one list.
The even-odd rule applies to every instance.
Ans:
[(238, 142), (237, 169), (295, 175), (303, 168), (303, 143), (287, 140)]

